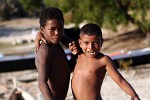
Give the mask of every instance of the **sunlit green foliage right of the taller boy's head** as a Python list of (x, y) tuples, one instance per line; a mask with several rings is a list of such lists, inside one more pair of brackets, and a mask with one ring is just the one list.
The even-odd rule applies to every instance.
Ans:
[(64, 14), (71, 11), (71, 21), (76, 24), (87, 20), (116, 30), (117, 25), (131, 22), (144, 33), (150, 32), (150, 0), (45, 0), (45, 4)]

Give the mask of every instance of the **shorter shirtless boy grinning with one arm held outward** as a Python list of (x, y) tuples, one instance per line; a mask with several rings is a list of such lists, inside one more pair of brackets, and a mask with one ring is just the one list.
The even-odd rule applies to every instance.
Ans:
[(76, 100), (102, 100), (101, 86), (106, 71), (117, 85), (131, 96), (140, 100), (132, 86), (118, 72), (112, 59), (100, 52), (102, 32), (96, 24), (86, 24), (80, 30), (78, 54), (72, 78), (72, 90)]

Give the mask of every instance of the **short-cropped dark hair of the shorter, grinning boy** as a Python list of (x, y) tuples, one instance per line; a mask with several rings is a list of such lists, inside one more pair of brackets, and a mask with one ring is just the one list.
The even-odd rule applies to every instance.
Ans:
[(94, 23), (88, 23), (84, 25), (80, 30), (80, 35), (83, 35), (83, 34), (98, 35), (102, 38), (101, 28)]

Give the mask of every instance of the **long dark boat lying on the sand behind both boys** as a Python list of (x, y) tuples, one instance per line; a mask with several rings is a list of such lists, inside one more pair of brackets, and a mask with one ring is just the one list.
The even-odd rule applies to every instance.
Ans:
[[(65, 49), (65, 54), (70, 59), (71, 51)], [(131, 51), (116, 51), (108, 54), (114, 61), (117, 68), (120, 67), (120, 60), (130, 61), (130, 66), (137, 66), (150, 63), (150, 47)], [(0, 72), (11, 72), (20, 70), (36, 69), (35, 54), (4, 56), (0, 58)]]

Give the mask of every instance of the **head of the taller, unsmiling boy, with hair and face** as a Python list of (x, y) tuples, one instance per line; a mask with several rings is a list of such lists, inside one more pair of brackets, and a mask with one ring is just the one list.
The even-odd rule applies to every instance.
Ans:
[(64, 34), (64, 17), (60, 9), (48, 7), (40, 13), (40, 29), (48, 43), (57, 44)]

